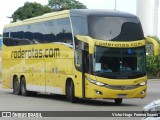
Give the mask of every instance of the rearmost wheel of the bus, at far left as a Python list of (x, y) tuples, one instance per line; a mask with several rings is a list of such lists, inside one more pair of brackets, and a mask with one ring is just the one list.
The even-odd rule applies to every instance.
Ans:
[(15, 77), (14, 80), (13, 80), (13, 93), (16, 94), (16, 95), (21, 94), (20, 83), (18, 82), (17, 77)]

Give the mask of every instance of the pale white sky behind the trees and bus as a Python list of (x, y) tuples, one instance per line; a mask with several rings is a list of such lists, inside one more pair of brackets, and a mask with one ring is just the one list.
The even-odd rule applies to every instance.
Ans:
[[(0, 34), (2, 34), (3, 26), (10, 23), (10, 17), (25, 2), (37, 2), (47, 5), (48, 0), (4, 0), (0, 4)], [(116, 9), (136, 14), (136, 0), (78, 0), (87, 6), (88, 9)]]

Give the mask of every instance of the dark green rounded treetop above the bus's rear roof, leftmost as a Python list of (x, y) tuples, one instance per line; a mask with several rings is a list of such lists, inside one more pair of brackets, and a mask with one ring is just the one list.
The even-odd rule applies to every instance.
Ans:
[(36, 16), (43, 15), (44, 13), (49, 13), (52, 12), (52, 9), (49, 8), (48, 6), (43, 6), (39, 3), (30, 3), (26, 2), (24, 6), (18, 8), (13, 14), (13, 22), (17, 20), (24, 20)]

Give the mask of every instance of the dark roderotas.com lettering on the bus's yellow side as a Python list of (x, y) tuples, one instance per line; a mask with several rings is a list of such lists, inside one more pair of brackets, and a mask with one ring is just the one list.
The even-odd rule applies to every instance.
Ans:
[(60, 57), (59, 48), (50, 48), (50, 49), (30, 49), (23, 50), (19, 49), (18, 51), (11, 52), (11, 58), (57, 58)]

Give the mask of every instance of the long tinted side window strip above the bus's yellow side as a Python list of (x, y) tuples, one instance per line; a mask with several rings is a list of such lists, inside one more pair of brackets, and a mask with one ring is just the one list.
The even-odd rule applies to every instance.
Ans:
[(69, 18), (7, 28), (3, 34), (3, 43), (7, 46), (51, 42), (73, 43)]

